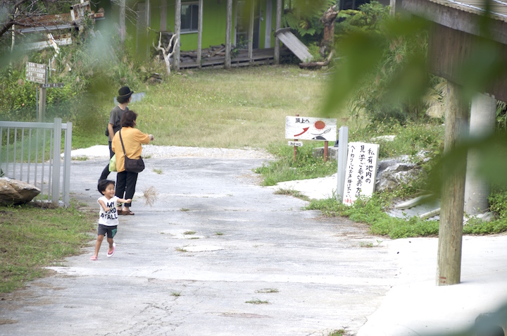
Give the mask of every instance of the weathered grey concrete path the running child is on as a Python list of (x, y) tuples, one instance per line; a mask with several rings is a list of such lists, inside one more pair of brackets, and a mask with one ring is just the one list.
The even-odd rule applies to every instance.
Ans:
[[(147, 159), (115, 255), (90, 261), (91, 235), (53, 275), (1, 295), (0, 335), (356, 333), (399, 280), (398, 256), (363, 225), (258, 186), (262, 162)], [(105, 163), (73, 161), (72, 197), (97, 210)]]

